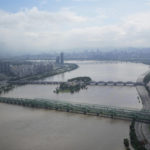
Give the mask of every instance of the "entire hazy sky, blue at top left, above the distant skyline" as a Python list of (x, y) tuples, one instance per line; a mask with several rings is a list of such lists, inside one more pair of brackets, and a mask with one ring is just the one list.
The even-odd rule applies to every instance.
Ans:
[(150, 47), (150, 0), (0, 0), (0, 51)]

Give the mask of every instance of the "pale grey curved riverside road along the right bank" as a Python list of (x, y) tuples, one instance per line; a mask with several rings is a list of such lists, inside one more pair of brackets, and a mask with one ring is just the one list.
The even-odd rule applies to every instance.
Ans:
[[(137, 82), (143, 82), (144, 77), (150, 71), (142, 74)], [(144, 83), (144, 82), (143, 82)], [(150, 110), (150, 96), (144, 86), (136, 86), (137, 92), (142, 100), (143, 108), (145, 110)], [(150, 125), (144, 123), (135, 123), (135, 132), (140, 141), (146, 142), (146, 149), (150, 150)]]

